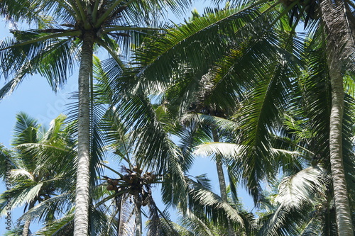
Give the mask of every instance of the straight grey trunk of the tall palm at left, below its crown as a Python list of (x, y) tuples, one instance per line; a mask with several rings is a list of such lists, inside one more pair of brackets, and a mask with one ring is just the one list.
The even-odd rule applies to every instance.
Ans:
[(79, 70), (79, 118), (77, 120), (77, 186), (74, 235), (87, 235), (89, 228), (89, 77), (92, 72), (94, 34), (84, 33)]

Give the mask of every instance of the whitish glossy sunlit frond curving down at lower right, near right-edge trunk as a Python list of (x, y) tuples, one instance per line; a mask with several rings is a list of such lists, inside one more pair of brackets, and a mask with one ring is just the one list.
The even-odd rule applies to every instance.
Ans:
[[(275, 212), (268, 215), (260, 235), (307, 235), (320, 222), (320, 211), (314, 210), (326, 200), (330, 179), (322, 167), (308, 167), (293, 176), (286, 176), (278, 186)], [(292, 217), (291, 217), (292, 215)], [(314, 221), (312, 223), (312, 221)], [(303, 229), (303, 230), (301, 230)], [(318, 231), (319, 232), (319, 231)]]

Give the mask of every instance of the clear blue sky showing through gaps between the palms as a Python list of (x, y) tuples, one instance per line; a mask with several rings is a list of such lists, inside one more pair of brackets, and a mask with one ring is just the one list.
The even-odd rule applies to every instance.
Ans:
[[(197, 5), (197, 9), (202, 13), (202, 4)], [(187, 16), (190, 15), (187, 14)], [(176, 22), (175, 19), (173, 21)], [(4, 21), (0, 22), (0, 39), (8, 37), (9, 26)], [(4, 78), (0, 79), (0, 87), (4, 86)], [(29, 116), (37, 118), (39, 123), (49, 125), (50, 120), (65, 112), (65, 104), (70, 93), (77, 90), (77, 76), (70, 77), (64, 89), (57, 94), (50, 89), (48, 82), (38, 75), (28, 77), (16, 91), (0, 101), (0, 143), (6, 147), (11, 147), (13, 126), (16, 123), (16, 113), (23, 111)], [(190, 174), (197, 176), (208, 174), (209, 178), (217, 180), (216, 167), (209, 158), (198, 158), (197, 164), (192, 168)], [(215, 192), (219, 192), (217, 181), (212, 182)], [(0, 192), (4, 191), (4, 186), (0, 186)], [(155, 193), (156, 194), (156, 193)], [(243, 189), (239, 189), (239, 196), (245, 200), (246, 208), (253, 208), (249, 196)], [(16, 221), (22, 210), (13, 212), (12, 220)], [(173, 215), (172, 215), (173, 217)], [(0, 218), (0, 235), (6, 232), (4, 218)]]

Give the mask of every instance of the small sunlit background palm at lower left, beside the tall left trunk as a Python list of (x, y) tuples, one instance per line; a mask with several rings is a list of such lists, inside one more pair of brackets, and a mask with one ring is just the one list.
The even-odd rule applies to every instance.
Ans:
[[(14, 128), (13, 152), (7, 155), (12, 167), (11, 188), (1, 193), (2, 212), (11, 198), (11, 209), (25, 204), (27, 213), (21, 217), (22, 235), (29, 235), (33, 218), (44, 218), (50, 222), (55, 213), (60, 213), (58, 201), (67, 203), (67, 192), (74, 184), (75, 142), (69, 127), (65, 127), (65, 116), (58, 116), (48, 130), (25, 113), (18, 113)], [(43, 132), (44, 131), (44, 132)], [(1, 167), (4, 163), (1, 162)], [(64, 197), (63, 197), (64, 195)], [(37, 206), (36, 206), (37, 205)], [(42, 213), (31, 216), (33, 208), (47, 206)], [(29, 216), (28, 216), (29, 215)]]

